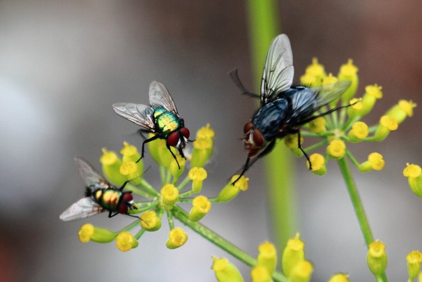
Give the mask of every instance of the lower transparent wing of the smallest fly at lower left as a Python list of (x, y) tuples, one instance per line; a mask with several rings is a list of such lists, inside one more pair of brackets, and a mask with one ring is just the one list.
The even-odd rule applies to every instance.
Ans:
[(75, 219), (86, 218), (103, 212), (104, 209), (98, 205), (92, 198), (86, 197), (78, 200), (73, 205), (63, 211), (59, 218), (62, 221), (73, 221)]

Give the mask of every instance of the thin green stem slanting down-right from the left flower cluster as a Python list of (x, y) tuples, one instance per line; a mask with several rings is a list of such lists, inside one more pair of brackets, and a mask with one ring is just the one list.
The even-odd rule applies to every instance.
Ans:
[[(218, 235), (216, 232), (213, 232), (209, 228), (206, 228), (201, 223), (190, 221), (186, 211), (184, 211), (180, 207), (175, 206), (172, 209), (172, 211), (173, 211), (174, 217), (176, 217), (179, 221), (181, 221), (181, 223), (187, 225), (190, 229), (197, 232), (199, 235), (207, 239), (209, 242), (215, 244), (216, 246), (219, 246), (230, 255), (233, 255), (235, 258), (241, 260), (241, 262), (244, 262), (246, 265), (249, 265), (250, 267), (254, 267), (257, 264), (257, 260), (255, 260), (255, 258), (251, 257), (250, 255), (248, 255), (248, 253), (245, 253), (240, 248), (234, 246), (232, 243), (228, 242), (226, 239)], [(282, 281), (282, 282), (289, 281), (280, 272), (274, 272), (273, 279), (274, 281)]]

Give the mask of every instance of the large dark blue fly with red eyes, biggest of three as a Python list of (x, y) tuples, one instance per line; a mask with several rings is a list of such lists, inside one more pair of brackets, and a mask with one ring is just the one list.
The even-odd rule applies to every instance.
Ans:
[(261, 107), (243, 126), (243, 145), (248, 158), (239, 178), (233, 184), (255, 161), (273, 150), (277, 139), (284, 138), (287, 134), (298, 134), (298, 147), (310, 164), (309, 157), (300, 144), (301, 126), (340, 109), (341, 107), (336, 107), (317, 114), (322, 106), (340, 97), (350, 86), (349, 81), (339, 81), (322, 87), (292, 86), (294, 76), (292, 47), (285, 34), (274, 38), (266, 53), (261, 95), (250, 93), (243, 87), (236, 69), (229, 75), (241, 89), (242, 94), (261, 100)]

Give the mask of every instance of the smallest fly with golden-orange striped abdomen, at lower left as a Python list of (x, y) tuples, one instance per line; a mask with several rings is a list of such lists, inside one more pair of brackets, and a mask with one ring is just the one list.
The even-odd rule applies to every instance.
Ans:
[[(85, 183), (85, 197), (73, 203), (60, 215), (62, 221), (73, 221), (109, 211), (108, 217), (116, 214), (128, 214), (129, 209), (134, 209), (132, 192), (123, 192), (128, 184), (126, 181), (120, 188), (116, 188), (105, 180), (83, 158), (75, 158), (77, 168)], [(138, 218), (137, 216), (133, 216)]]

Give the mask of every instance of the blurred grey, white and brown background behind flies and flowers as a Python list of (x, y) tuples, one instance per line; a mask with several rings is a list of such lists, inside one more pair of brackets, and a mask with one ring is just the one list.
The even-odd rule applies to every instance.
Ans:
[[(367, 84), (383, 87), (369, 124), (400, 98), (422, 104), (419, 1), (278, 1), (278, 10), (280, 30), (292, 43), (296, 81), (312, 57), (335, 75), (352, 58), (359, 67), (358, 96)], [(215, 281), (211, 255), (229, 258), (248, 280), (249, 267), (190, 230), (188, 244), (174, 251), (165, 247), (163, 224), (138, 248), (121, 253), (114, 244), (81, 244), (77, 231), (85, 222), (118, 230), (129, 218), (59, 221), (84, 189), (75, 156), (99, 170), (102, 147), (141, 144), (133, 134), (137, 126), (111, 105), (148, 103), (152, 80), (168, 87), (191, 133), (208, 122), (215, 129), (203, 192), (216, 195), (245, 161), (242, 128), (257, 108), (227, 75), (239, 68), (246, 87), (257, 89), (248, 35), (246, 3), (239, 0), (0, 1), (0, 281)], [(422, 248), (422, 199), (402, 177), (407, 162), (422, 163), (421, 117), (416, 108), (386, 141), (352, 147), (360, 161), (375, 150), (386, 160), (382, 172), (353, 172), (372, 232), (387, 246), (390, 281), (407, 279), (405, 255)], [(336, 272), (373, 281), (335, 163), (317, 177), (304, 158), (293, 161), (292, 216), (315, 266), (312, 281), (328, 281)], [(146, 179), (158, 186), (148, 153), (145, 164), (152, 165)], [(261, 242), (274, 239), (263, 163), (248, 177), (249, 190), (213, 205), (202, 223), (255, 256)]]

